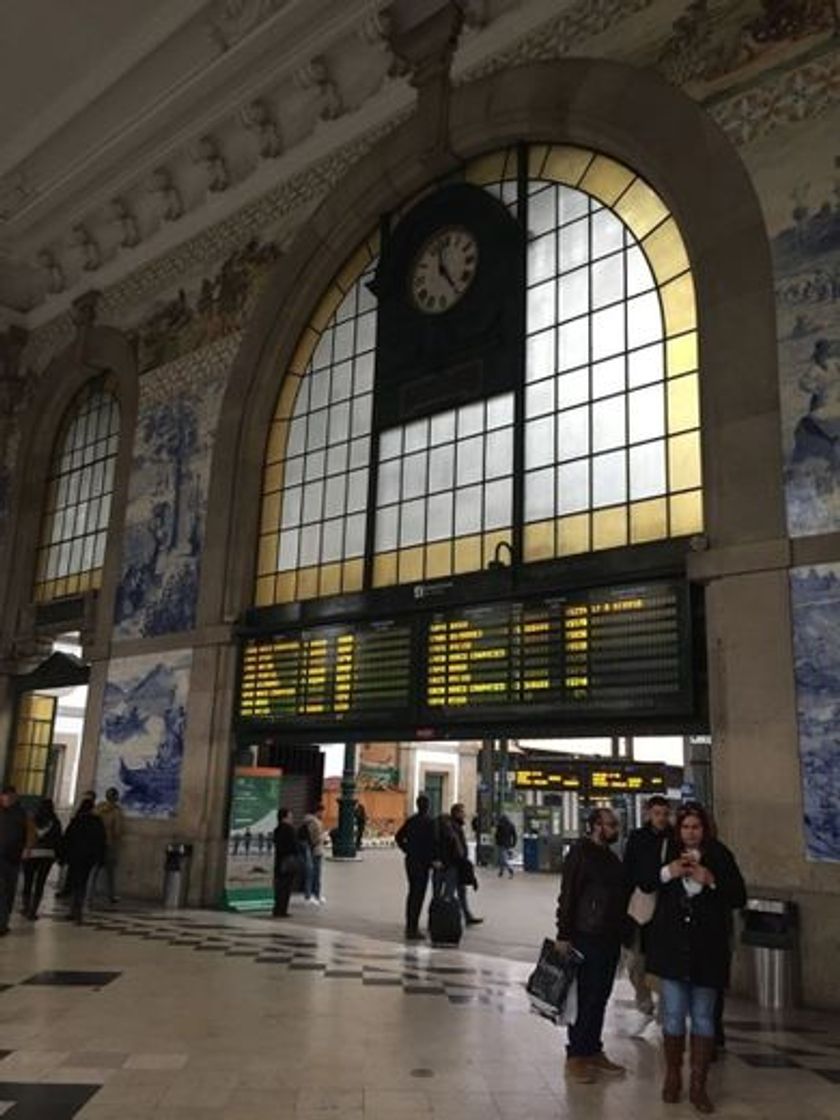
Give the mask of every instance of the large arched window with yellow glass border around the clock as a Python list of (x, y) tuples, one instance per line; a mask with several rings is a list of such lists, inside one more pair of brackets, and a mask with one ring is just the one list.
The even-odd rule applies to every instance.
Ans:
[(694, 288), (668, 207), (569, 146), (494, 152), (463, 178), (526, 230), (522, 382), (372, 436), (365, 243), (281, 388), (258, 605), (476, 571), (502, 542), (533, 562), (702, 529)]

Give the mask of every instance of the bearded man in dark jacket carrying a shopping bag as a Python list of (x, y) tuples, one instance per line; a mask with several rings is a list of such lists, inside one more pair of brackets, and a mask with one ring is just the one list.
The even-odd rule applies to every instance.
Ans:
[(557, 904), (557, 948), (584, 955), (578, 972), (578, 1016), (569, 1027), (566, 1074), (580, 1084), (597, 1073), (622, 1076), (624, 1066), (604, 1053), (604, 1015), (613, 990), (627, 908), (627, 883), (622, 861), (610, 851), (618, 839), (618, 819), (612, 809), (594, 809), (588, 836), (566, 858)]

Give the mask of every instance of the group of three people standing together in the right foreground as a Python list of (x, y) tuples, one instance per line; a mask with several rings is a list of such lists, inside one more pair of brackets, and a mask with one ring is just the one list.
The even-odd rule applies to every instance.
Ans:
[(573, 946), (582, 954), (567, 1075), (586, 1084), (598, 1074), (625, 1072), (607, 1057), (601, 1042), (624, 944), (641, 1010), (653, 1012), (647, 978), (655, 978), (659, 987), (663, 1101), (676, 1103), (682, 1094), (688, 1026), (689, 1099), (698, 1111), (711, 1112), (707, 1077), (716, 1053), (716, 1015), (719, 1025), (729, 982), (732, 914), (746, 905), (746, 887), (702, 805), (683, 804), (673, 823), (664, 797), (651, 797), (646, 808), (647, 821), (631, 833), (623, 861), (612, 851), (619, 833), (615, 813), (596, 809), (587, 837), (563, 864), (557, 948), (567, 953)]

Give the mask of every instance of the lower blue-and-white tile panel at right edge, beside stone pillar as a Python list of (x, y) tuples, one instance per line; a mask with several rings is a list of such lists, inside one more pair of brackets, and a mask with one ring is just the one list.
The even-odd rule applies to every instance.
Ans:
[(840, 860), (840, 564), (791, 572), (809, 858)]

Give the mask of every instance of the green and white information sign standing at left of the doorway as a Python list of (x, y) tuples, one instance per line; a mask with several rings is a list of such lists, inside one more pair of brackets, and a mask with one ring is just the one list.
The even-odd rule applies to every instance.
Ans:
[(269, 909), (274, 900), (274, 829), (282, 771), (237, 766), (227, 830), (225, 905)]

